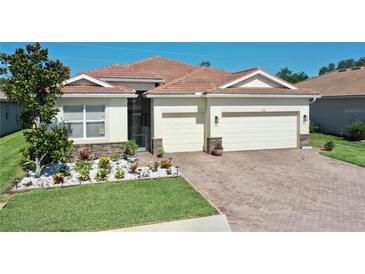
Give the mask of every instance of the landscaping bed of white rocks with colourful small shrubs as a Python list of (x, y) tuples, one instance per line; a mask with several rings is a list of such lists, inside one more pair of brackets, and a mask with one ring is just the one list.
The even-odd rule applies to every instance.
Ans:
[(101, 157), (96, 160), (77, 160), (74, 163), (47, 166), (39, 178), (35, 177), (34, 172), (29, 171), (28, 176), (21, 179), (13, 187), (13, 190), (93, 184), (106, 181), (156, 179), (178, 175), (179, 171), (175, 166), (172, 166), (171, 160), (151, 162), (147, 167), (139, 167), (138, 162), (130, 163), (124, 159), (112, 161), (109, 157)]

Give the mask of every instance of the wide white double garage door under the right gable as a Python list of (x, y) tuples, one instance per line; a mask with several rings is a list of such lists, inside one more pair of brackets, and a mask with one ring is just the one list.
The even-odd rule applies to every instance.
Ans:
[(225, 151), (297, 147), (295, 113), (222, 113)]

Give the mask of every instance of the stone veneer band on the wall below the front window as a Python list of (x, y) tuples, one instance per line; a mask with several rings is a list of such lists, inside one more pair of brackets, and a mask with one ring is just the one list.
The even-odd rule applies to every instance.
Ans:
[(87, 151), (91, 158), (100, 158), (101, 156), (112, 157), (115, 154), (123, 155), (124, 147), (127, 142), (104, 143), (104, 144), (74, 144), (73, 157), (77, 159), (80, 151)]

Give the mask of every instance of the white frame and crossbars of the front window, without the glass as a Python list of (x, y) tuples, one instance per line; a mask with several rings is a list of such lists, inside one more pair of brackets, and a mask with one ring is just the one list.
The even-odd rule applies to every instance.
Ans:
[[(68, 107), (68, 106), (82, 106), (82, 120), (65, 120), (65, 110), (64, 107)], [(93, 120), (86, 120), (86, 107), (87, 106), (103, 106), (104, 107), (104, 119), (103, 120), (97, 120), (97, 119), (93, 119)], [(67, 105), (62, 105), (62, 119), (63, 122), (65, 124), (67, 123), (82, 123), (82, 135), (83, 137), (69, 137), (71, 140), (106, 140), (106, 105), (105, 104), (67, 104)], [(103, 122), (104, 123), (104, 136), (102, 137), (87, 137), (87, 123), (95, 123), (95, 122)]]

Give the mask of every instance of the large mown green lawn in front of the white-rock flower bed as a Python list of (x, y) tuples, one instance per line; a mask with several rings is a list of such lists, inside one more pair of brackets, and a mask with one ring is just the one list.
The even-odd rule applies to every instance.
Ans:
[(97, 231), (216, 213), (182, 177), (33, 190), (0, 209), (0, 231)]

